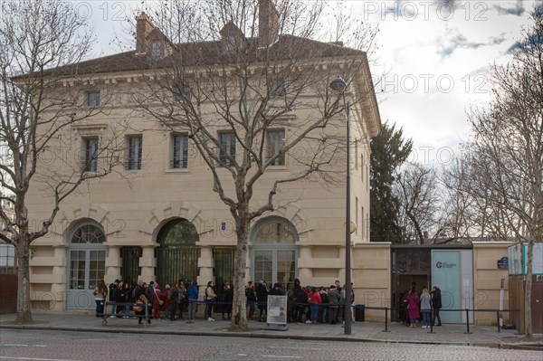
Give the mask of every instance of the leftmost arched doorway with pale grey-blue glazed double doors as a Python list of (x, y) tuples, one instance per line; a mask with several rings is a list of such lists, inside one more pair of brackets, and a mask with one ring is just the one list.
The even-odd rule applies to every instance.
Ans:
[(106, 236), (99, 223), (83, 220), (69, 233), (66, 308), (94, 309), (92, 292), (106, 273)]

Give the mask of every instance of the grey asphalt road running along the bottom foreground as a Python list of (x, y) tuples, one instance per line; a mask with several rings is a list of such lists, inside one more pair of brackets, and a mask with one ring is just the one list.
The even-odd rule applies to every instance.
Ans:
[(0, 329), (0, 360), (535, 360), (540, 351), (451, 345)]

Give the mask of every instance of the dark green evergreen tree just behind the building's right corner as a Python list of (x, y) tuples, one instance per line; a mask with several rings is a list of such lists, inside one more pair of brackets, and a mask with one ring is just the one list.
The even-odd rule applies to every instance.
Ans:
[(395, 170), (411, 154), (412, 139), (405, 139), (402, 128), (388, 123), (371, 141), (370, 177), (370, 240), (401, 242), (402, 228), (398, 221), (400, 199), (393, 192)]

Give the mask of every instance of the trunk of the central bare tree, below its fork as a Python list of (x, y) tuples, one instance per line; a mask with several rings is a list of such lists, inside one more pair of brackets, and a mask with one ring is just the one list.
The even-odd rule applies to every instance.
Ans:
[[(248, 251), (248, 224), (240, 224), (236, 227), (237, 245), (234, 253), (233, 264), (233, 303), (232, 303), (232, 330), (247, 330), (247, 313), (245, 301), (245, 267)], [(247, 222), (248, 223), (248, 222)]]

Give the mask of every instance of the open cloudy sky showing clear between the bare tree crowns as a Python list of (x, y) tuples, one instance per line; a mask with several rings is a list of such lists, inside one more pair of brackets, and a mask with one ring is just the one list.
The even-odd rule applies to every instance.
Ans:
[[(310, 1), (310, 0), (308, 0)], [(147, 3), (147, 4), (146, 4)], [(75, 1), (99, 35), (96, 54), (117, 52), (112, 33), (126, 30), (126, 14), (152, 1)], [(412, 160), (447, 163), (469, 134), (466, 109), (489, 96), (493, 62), (510, 61), (510, 47), (541, 0), (364, 1), (344, 3), (380, 29), (372, 72), (383, 122), (414, 139)], [(123, 26), (124, 24), (124, 26)], [(126, 36), (126, 35), (125, 35)]]

